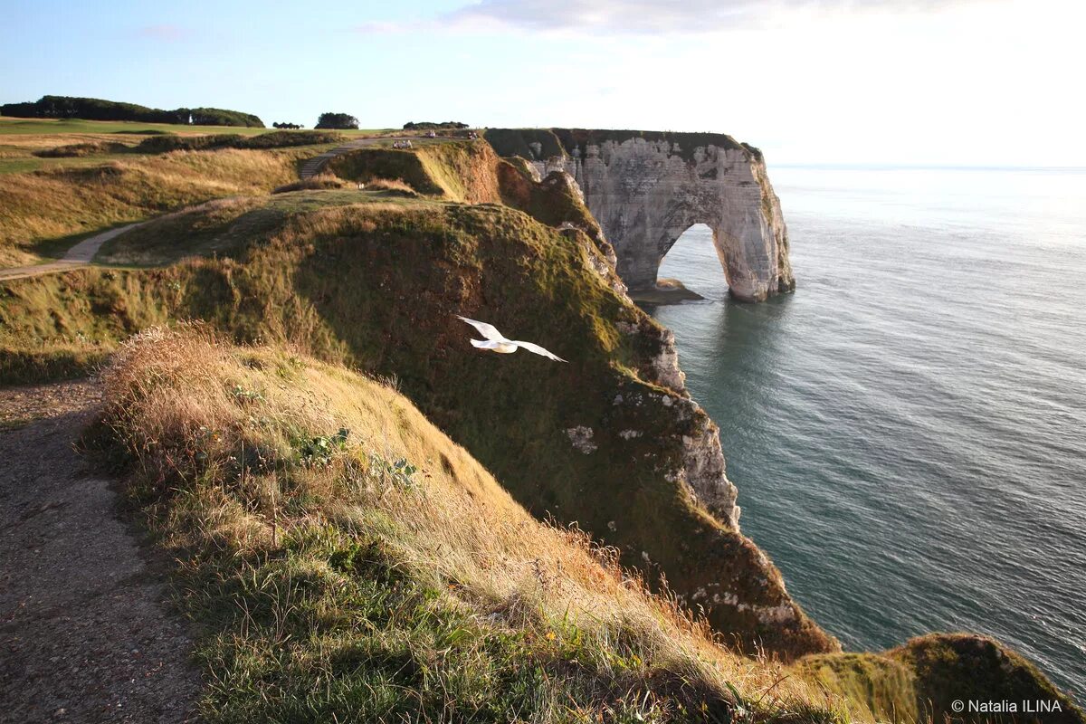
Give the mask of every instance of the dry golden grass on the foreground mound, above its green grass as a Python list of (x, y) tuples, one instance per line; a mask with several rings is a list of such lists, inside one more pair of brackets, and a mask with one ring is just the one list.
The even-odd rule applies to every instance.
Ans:
[[(138, 335), (103, 381), (104, 419), (138, 478), (184, 491), (163, 524), (174, 550), (247, 557), (331, 525), (382, 542), (480, 625), (544, 644), (576, 632), (581, 665), (599, 676), (737, 694), (765, 712), (841, 709), (792, 670), (719, 646), (583, 533), (533, 519), (389, 384), (275, 348), (225, 345), (202, 328)], [(299, 439), (334, 440), (342, 429), (345, 446), (324, 463), (288, 463)], [(390, 473), (394, 460), (418, 471)]]

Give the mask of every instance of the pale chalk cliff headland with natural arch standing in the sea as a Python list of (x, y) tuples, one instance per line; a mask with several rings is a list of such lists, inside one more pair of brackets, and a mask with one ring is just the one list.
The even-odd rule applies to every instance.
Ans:
[(712, 229), (733, 296), (758, 302), (795, 288), (788, 234), (761, 152), (723, 134), (491, 129), (501, 155), (541, 176), (569, 173), (631, 290), (654, 289), (660, 262), (695, 224)]

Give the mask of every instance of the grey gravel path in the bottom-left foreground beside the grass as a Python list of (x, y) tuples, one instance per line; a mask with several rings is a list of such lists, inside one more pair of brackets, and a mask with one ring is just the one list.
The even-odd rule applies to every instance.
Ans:
[(72, 447), (98, 404), (86, 381), (0, 389), (0, 722), (194, 721), (185, 627)]

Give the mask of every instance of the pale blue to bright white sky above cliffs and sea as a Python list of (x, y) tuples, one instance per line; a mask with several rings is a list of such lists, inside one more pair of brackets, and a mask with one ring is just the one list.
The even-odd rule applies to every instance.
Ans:
[(0, 102), (720, 131), (778, 164), (1086, 166), (1081, 0), (0, 0)]

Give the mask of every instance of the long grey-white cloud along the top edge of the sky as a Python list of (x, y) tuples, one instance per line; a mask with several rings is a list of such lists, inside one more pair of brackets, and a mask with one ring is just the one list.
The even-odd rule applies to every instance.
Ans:
[[(699, 34), (836, 13), (924, 12), (978, 0), (479, 0), (434, 20), (367, 23), (363, 33), (522, 30)], [(989, 0), (990, 1), (990, 0)]]

